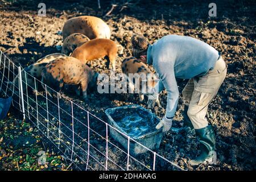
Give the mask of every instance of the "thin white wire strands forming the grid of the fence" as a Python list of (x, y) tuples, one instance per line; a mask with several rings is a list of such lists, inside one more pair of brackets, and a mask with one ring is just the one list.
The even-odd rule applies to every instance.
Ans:
[[(8, 57), (6, 57), (6, 56), (2, 53), (2, 51), (1, 51), (1, 54), (0, 54), (0, 65), (1, 65), (1, 62), (2, 62), (2, 55), (5, 57), (5, 60), (4, 60), (4, 63), (3, 63), (3, 73), (2, 73), (3, 76), (2, 76), (2, 82), (1, 82), (0, 88), (2, 89), (2, 85), (4, 84), (4, 83), (3, 83), (3, 78), (7, 78), (7, 85), (4, 84), (4, 85), (6, 85), (6, 92), (5, 92), (5, 94), (7, 94), (7, 89), (9, 89), (9, 87), (8, 87), (8, 82), (9, 82), (9, 80), (10, 80), (10, 77), (9, 77), (9, 76), (10, 76), (10, 72), (11, 72), (11, 73), (13, 73), (13, 77), (14, 77), (14, 80), (13, 80), (13, 85), (14, 85), (14, 86), (13, 86), (13, 93), (12, 93), (12, 94), (16, 94), (16, 93), (14, 92), (14, 89), (17, 88), (16, 85), (15, 85), (15, 82), (14, 82), (14, 81), (15, 81), (15, 67), (16, 67), (16, 68), (18, 68), (18, 67), (13, 63), (13, 61), (11, 61)], [(5, 67), (6, 67), (5, 61), (6, 61), (6, 58), (9, 60), (8, 68), (6, 68), (6, 69), (8, 69), (8, 71), (9, 71), (7, 77), (5, 76)], [(13, 63), (13, 71), (10, 70), (10, 63)], [(23, 71), (24, 71), (24, 70), (23, 70)], [(32, 78), (34, 78), (35, 89), (32, 88), (32, 86), (30, 86), (30, 87), (31, 87), (32, 89), (34, 89), (35, 92), (36, 92), (36, 101), (34, 101), (34, 99), (30, 98), (30, 97), (28, 96), (28, 93), (27, 93), (27, 92), (26, 92), (26, 94), (24, 94), (24, 95), (27, 96), (27, 101), (24, 101), (24, 102), (26, 102), (26, 104), (27, 104), (27, 109), (26, 109), (26, 110), (27, 110), (27, 114), (26, 114), (26, 115), (28, 115), (28, 118), (30, 118), (30, 114), (31, 114), (31, 116), (32, 116), (33, 118), (35, 118), (36, 121), (37, 121), (37, 127), (38, 127), (38, 129), (39, 129), (44, 135), (46, 135), (46, 134), (44, 133), (44, 131), (42, 131), (42, 130), (40, 129), (40, 127), (39, 127), (39, 123), (40, 123), (40, 126), (46, 127), (45, 125), (43, 125), (42, 122), (40, 122), (40, 120), (39, 120), (39, 115), (40, 115), (40, 117), (42, 117), (42, 118), (44, 118), (44, 119), (46, 119), (46, 118), (45, 118), (41, 113), (39, 113), (39, 111), (38, 111), (38, 106), (39, 106), (40, 108), (42, 108), (43, 110), (45, 110), (45, 109), (44, 109), (42, 106), (40, 106), (40, 105), (38, 104), (38, 97), (37, 97), (37, 96), (38, 96), (38, 94), (40, 94), (40, 93), (38, 92), (38, 90), (37, 90), (37, 88), (36, 88), (36, 82), (39, 82), (39, 83), (42, 83), (42, 82), (41, 82), (40, 80), (38, 80), (37, 78), (35, 78), (34, 76), (32, 76), (32, 75), (30, 75), (29, 73), (27, 73), (26, 71), (24, 71), (24, 74), (25, 74), (25, 79), (26, 79), (26, 81), (25, 81), (25, 82), (24, 82), (23, 80), (22, 80), (22, 81), (26, 84), (26, 89), (28, 88), (27, 86), (30, 86), (30, 85), (27, 83), (27, 76), (26, 76), (26, 75), (28, 75), (28, 76), (31, 76)], [(113, 162), (113, 163), (115, 164), (115, 166), (117, 166), (117, 167), (123, 169), (123, 168), (120, 167), (117, 163), (115, 163), (112, 159), (109, 158), (109, 156), (108, 156), (108, 147), (109, 147), (109, 143), (112, 144), (115, 148), (117, 148), (117, 149), (120, 150), (121, 152), (123, 152), (124, 154), (127, 154), (127, 170), (129, 170), (129, 166), (130, 166), (130, 164), (129, 164), (129, 159), (133, 159), (133, 160), (135, 160), (135, 162), (138, 162), (138, 163), (141, 164), (142, 166), (148, 168), (148, 167), (145, 166), (143, 163), (139, 162), (139, 160), (133, 158), (133, 156), (130, 155), (130, 140), (131, 140), (131, 141), (133, 141), (134, 143), (139, 144), (139, 146), (144, 147), (147, 151), (152, 152), (152, 154), (153, 154), (153, 170), (155, 170), (156, 156), (158, 156), (159, 158), (161, 158), (161, 159), (163, 159), (163, 160), (166, 160), (166, 162), (172, 164), (173, 166), (177, 167), (178, 169), (184, 170), (183, 168), (177, 166), (177, 164), (175, 164), (175, 163), (171, 162), (170, 160), (164, 158), (163, 156), (157, 154), (155, 151), (152, 151), (152, 150), (150, 150), (149, 148), (147, 148), (146, 146), (143, 146), (141, 143), (137, 142), (135, 139), (130, 138), (130, 137), (127, 136), (125, 133), (122, 133), (121, 131), (115, 129), (115, 127), (109, 125), (107, 122), (102, 121), (102, 119), (98, 118), (96, 115), (94, 115), (94, 114), (92, 114), (92, 113), (89, 113), (89, 111), (85, 110), (84, 108), (82, 108), (81, 106), (77, 105), (76, 103), (73, 103), (69, 98), (63, 96), (62, 94), (59, 94), (58, 92), (56, 92), (56, 91), (53, 90), (52, 88), (49, 88), (47, 85), (45, 85), (45, 86), (46, 86), (46, 97), (44, 97), (43, 94), (40, 94), (40, 95), (41, 95), (42, 97), (46, 98), (46, 103), (47, 103), (47, 110), (45, 110), (45, 111), (47, 112), (47, 127), (46, 127), (46, 129), (47, 129), (47, 136), (48, 136), (48, 138), (49, 138), (49, 133), (51, 133), (52, 135), (54, 135), (54, 137), (56, 137), (56, 139), (59, 141), (59, 142), (58, 142), (58, 143), (59, 143), (58, 146), (56, 146), (56, 144), (55, 144), (50, 138), (49, 138), (49, 140), (50, 140), (57, 148), (59, 148), (59, 150), (60, 150), (60, 143), (63, 143), (64, 146), (65, 146), (67, 149), (69, 149), (69, 150), (72, 151), (72, 154), (71, 154), (71, 162), (72, 162), (77, 168), (79, 168), (79, 167), (78, 167), (78, 166), (75, 164), (75, 162), (73, 162), (73, 160), (72, 160), (73, 155), (76, 155), (78, 158), (80, 158), (80, 159), (82, 160), (82, 162), (84, 162), (84, 163), (86, 164), (86, 170), (88, 169), (88, 167), (89, 167), (90, 169), (94, 170), (91, 166), (89, 166), (89, 156), (90, 156), (93, 160), (95, 160), (98, 164), (100, 164), (102, 167), (104, 167), (105, 170), (108, 170), (108, 160), (109, 160), (110, 162)], [(48, 87), (48, 89), (51, 89), (53, 92), (57, 93), (57, 105), (56, 105), (54, 102), (52, 102), (51, 100), (48, 100), (48, 98), (47, 98), (47, 87)], [(22, 88), (20, 88), (20, 85), (19, 85), (19, 88), (18, 88), (18, 89), (22, 89)], [(9, 89), (9, 90), (11, 90), (11, 89)], [(27, 90), (26, 90), (26, 91), (27, 91)], [(16, 95), (18, 96), (18, 94), (16, 94)], [(71, 102), (71, 105), (72, 105), (72, 106), (71, 106), (71, 107), (72, 107), (72, 108), (71, 108), (71, 109), (72, 109), (72, 114), (69, 114), (67, 111), (65, 111), (63, 108), (60, 107), (59, 96), (61, 96), (62, 98), (64, 98), (64, 99), (67, 100), (68, 102)], [(35, 102), (35, 104), (36, 104), (36, 117), (35, 117), (32, 113), (30, 113), (30, 111), (29, 111), (29, 107), (31, 107), (32, 110), (35, 110), (35, 108), (32, 107), (32, 106), (28, 103), (28, 98), (30, 98), (30, 99), (31, 99), (33, 102)], [(58, 107), (58, 116), (59, 116), (58, 122), (59, 122), (59, 128), (57, 128), (55, 125), (53, 125), (53, 124), (49, 121), (49, 115), (51, 115), (51, 116), (54, 117), (54, 118), (55, 118), (55, 116), (53, 116), (53, 115), (52, 115), (51, 113), (49, 113), (49, 111), (48, 111), (48, 101), (51, 102), (53, 105), (56, 105), (56, 106)], [(13, 102), (16, 102), (16, 101), (13, 100)], [(16, 103), (19, 104), (19, 106), (20, 106), (20, 95), (19, 95), (19, 103), (18, 103), (18, 102), (16, 102)], [(14, 105), (14, 104), (13, 104), (13, 105)], [(79, 107), (79, 109), (81, 109), (81, 110), (83, 110), (83, 111), (85, 111), (85, 112), (87, 113), (87, 117), (88, 117), (88, 125), (87, 125), (87, 126), (84, 125), (84, 123), (82, 123), (79, 119), (77, 119), (77, 118), (75, 118), (75, 117), (73, 116), (73, 106), (74, 106), (74, 105), (77, 106), (77, 107)], [(16, 105), (14, 105), (14, 107), (16, 107)], [(63, 111), (64, 113), (67, 113), (68, 115), (70, 115), (70, 116), (72, 117), (72, 130), (69, 129), (69, 127), (67, 127), (63, 122), (60, 121), (60, 110)], [(90, 128), (90, 125), (89, 125), (89, 116), (90, 116), (90, 115), (91, 115), (92, 117), (96, 118), (97, 121), (100, 121), (100, 122), (102, 122), (102, 123), (105, 123), (105, 125), (106, 125), (106, 138), (104, 138), (103, 136), (101, 136), (101, 134), (97, 133), (96, 131), (94, 131), (93, 129)], [(87, 141), (87, 142), (86, 142), (85, 139), (83, 139), (82, 137), (80, 137), (79, 134), (75, 133), (75, 131), (74, 131), (74, 123), (75, 123), (74, 121), (75, 121), (75, 120), (74, 120), (74, 119), (75, 119), (76, 121), (78, 121), (79, 123), (81, 123), (81, 125), (83, 125), (83, 126), (85, 126), (85, 127), (88, 128), (88, 141)], [(32, 121), (32, 120), (31, 120), (31, 121)], [(34, 123), (34, 122), (32, 122), (32, 123)], [(49, 130), (49, 123), (51, 124), (51, 128), (52, 128), (52, 129), (55, 129), (55, 128), (56, 128), (56, 130), (59, 131), (59, 137), (57, 137), (52, 131)], [(35, 123), (34, 123), (34, 124), (35, 124)], [(60, 127), (61, 125), (67, 127), (68, 131), (69, 131), (69, 130), (72, 131), (72, 139), (70, 139), (70, 138), (68, 137), (68, 135), (66, 135), (63, 131), (61, 131), (61, 127)], [(36, 126), (36, 125), (35, 125), (35, 126)], [(52, 126), (53, 126), (53, 127), (52, 127)], [(121, 150), (121, 148), (119, 148), (118, 146), (116, 146), (114, 143), (110, 142), (110, 140), (109, 140), (109, 138), (108, 138), (108, 127), (114, 129), (114, 130), (117, 131), (118, 133), (122, 134), (124, 137), (128, 138), (128, 142), (129, 142), (128, 153), (126, 153), (125, 151)], [(100, 136), (102, 139), (105, 139), (105, 140), (106, 140), (106, 155), (104, 155), (100, 150), (98, 150), (96, 147), (94, 147), (92, 144), (90, 144), (90, 130), (93, 131), (94, 133), (96, 133), (96, 134), (97, 134), (98, 136)], [(72, 140), (72, 149), (71, 149), (70, 147), (68, 147), (67, 144), (65, 144), (65, 143), (63, 142), (63, 140), (62, 140), (61, 137), (60, 137), (60, 136), (61, 136), (60, 134), (63, 134), (63, 135), (65, 135), (68, 139)], [(75, 134), (76, 134), (79, 138), (81, 138), (82, 140), (84, 140), (84, 141), (88, 144), (88, 150), (87, 150), (87, 151), (85, 151), (81, 146), (79, 146), (79, 144), (77, 144), (77, 143), (75, 142)], [(74, 150), (75, 144), (76, 144), (76, 146), (78, 146), (79, 148), (81, 148), (81, 150), (84, 151), (85, 154), (87, 154), (86, 162), (85, 162), (79, 155), (76, 154), (76, 152), (75, 152), (75, 150)], [(102, 156), (105, 156), (105, 157), (106, 157), (106, 162), (105, 162), (106, 164), (105, 164), (105, 166), (102, 165), (101, 162), (99, 162), (97, 159), (95, 159), (92, 155), (90, 155), (90, 146), (92, 146), (93, 148), (95, 148), (95, 150), (96, 150), (97, 152), (99, 152)], [(63, 152), (62, 150), (60, 150), (60, 151)], [(63, 154), (65, 154), (65, 153), (63, 152)], [(68, 158), (68, 156), (67, 156), (67, 158)], [(80, 169), (80, 168), (79, 168), (79, 169)], [(148, 168), (148, 169), (151, 170), (151, 168)]]

